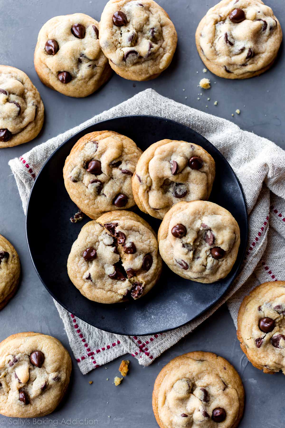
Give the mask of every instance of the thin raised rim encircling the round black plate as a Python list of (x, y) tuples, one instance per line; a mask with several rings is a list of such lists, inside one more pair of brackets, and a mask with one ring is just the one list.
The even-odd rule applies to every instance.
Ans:
[[(35, 271), (36, 271), (36, 273), (38, 275), (38, 278), (40, 279), (41, 283), (44, 285), (44, 288), (48, 291), (48, 293), (51, 295), (51, 297), (53, 297), (53, 299), (56, 300), (56, 302), (59, 303), (59, 305), (61, 305), (69, 313), (73, 313), (73, 312), (71, 312), (70, 309), (68, 309), (68, 307), (65, 305), (65, 303), (59, 302), (59, 300), (56, 298), (56, 296), (53, 294), (53, 292), (50, 290), (50, 288), (47, 287), (47, 285), (45, 284), (44, 280), (41, 278), (41, 275), (38, 272), (38, 269), (36, 268), (35, 262), (34, 262), (33, 257), (32, 257), (32, 252), (31, 252), (31, 249), (30, 249), (29, 239), (28, 239), (28, 221), (29, 221), (28, 211), (29, 211), (29, 203), (30, 203), (30, 200), (32, 198), (32, 193), (33, 193), (33, 190), (34, 190), (34, 187), (35, 187), (35, 183), (36, 183), (38, 177), (40, 176), (42, 170), (46, 166), (46, 164), (53, 158), (53, 156), (56, 155), (57, 152), (59, 152), (61, 150), (62, 146), (64, 146), (65, 144), (68, 143), (69, 140), (71, 140), (71, 138), (74, 138), (74, 137), (78, 136), (82, 132), (85, 132), (86, 134), (88, 134), (88, 132), (93, 132), (93, 131), (87, 131), (87, 130), (88, 130), (88, 128), (94, 127), (96, 125), (104, 124), (105, 122), (115, 121), (115, 120), (122, 119), (122, 118), (130, 118), (130, 117), (132, 117), (132, 118), (135, 118), (135, 117), (144, 117), (144, 118), (151, 118), (151, 119), (159, 119), (159, 120), (162, 120), (162, 121), (172, 122), (172, 123), (178, 124), (179, 126), (182, 126), (182, 127), (186, 128), (187, 130), (190, 130), (190, 131), (194, 132), (194, 134), (199, 135), (203, 140), (206, 141), (206, 143), (209, 143), (212, 146), (212, 148), (214, 149), (214, 151), (216, 153), (218, 153), (218, 156), (222, 157), (223, 160), (228, 164), (229, 168), (232, 170), (232, 173), (235, 176), (235, 179), (236, 179), (236, 181), (238, 183), (238, 186), (239, 186), (239, 188), (241, 190), (241, 195), (242, 195), (243, 200), (244, 200), (245, 220), (246, 220), (246, 230), (244, 231), (244, 233), (245, 233), (246, 243), (248, 242), (249, 222), (248, 222), (248, 212), (247, 212), (247, 201), (246, 201), (246, 198), (245, 198), (245, 195), (244, 195), (244, 190), (243, 190), (243, 188), (241, 186), (241, 182), (239, 181), (239, 179), (238, 179), (235, 171), (233, 170), (231, 164), (229, 163), (229, 161), (226, 160), (226, 158), (224, 157), (224, 155), (217, 149), (216, 146), (214, 146), (213, 143), (211, 143), (209, 140), (207, 140), (206, 137), (204, 137), (202, 134), (199, 134), (199, 132), (195, 131), (190, 126), (184, 125), (184, 124), (182, 124), (180, 122), (176, 122), (173, 119), (167, 119), (167, 118), (164, 118), (164, 117), (152, 116), (152, 115), (144, 115), (144, 114), (141, 114), (141, 115), (140, 114), (135, 114), (135, 115), (115, 116), (115, 117), (110, 117), (109, 119), (104, 119), (104, 120), (101, 120), (99, 122), (92, 123), (91, 125), (85, 126), (81, 130), (77, 131), (75, 134), (73, 134), (70, 137), (68, 137), (63, 143), (61, 143), (59, 145), (59, 147), (57, 147), (53, 151), (53, 153), (47, 158), (47, 160), (41, 166), (41, 169), (38, 171), (38, 174), (36, 175), (35, 181), (34, 181), (34, 183), (32, 185), (30, 193), (29, 193), (29, 198), (28, 198), (27, 207), (26, 207), (26, 215), (25, 215), (25, 217), (26, 217), (25, 218), (25, 235), (26, 235), (26, 242), (27, 242), (27, 246), (28, 246), (28, 250), (29, 250), (29, 256), (30, 256), (30, 258), (32, 260), (32, 265), (33, 265), (33, 267), (34, 267), (34, 269), (35, 269)], [(111, 331), (111, 330), (103, 329), (103, 328), (100, 328), (100, 330), (106, 331), (107, 333), (118, 334), (118, 335), (121, 335), (121, 336), (150, 336), (150, 335), (153, 335), (153, 334), (156, 334), (156, 333), (159, 334), (159, 333), (165, 333), (167, 331), (176, 330), (177, 328), (183, 327), (186, 324), (188, 324), (189, 322), (192, 322), (192, 321), (196, 320), (198, 317), (202, 316), (206, 311), (208, 311), (209, 309), (211, 309), (216, 303), (218, 303), (224, 297), (224, 295), (226, 294), (226, 292), (229, 290), (229, 287), (232, 285), (232, 283), (235, 281), (235, 279), (237, 278), (238, 274), (241, 271), (241, 265), (244, 262), (244, 256), (246, 254), (246, 250), (247, 250), (247, 245), (245, 245), (244, 250), (243, 250), (243, 252), (241, 254), (241, 259), (240, 259), (240, 262), (239, 262), (239, 264), (238, 264), (238, 266), (236, 268), (235, 275), (233, 276), (232, 281), (229, 283), (229, 285), (227, 286), (227, 288), (225, 289), (225, 291), (223, 292), (223, 294), (214, 303), (212, 303), (210, 306), (208, 306), (207, 308), (205, 308), (203, 311), (201, 311), (199, 314), (197, 314), (191, 320), (188, 320), (185, 323), (183, 323), (183, 324), (181, 324), (179, 326), (176, 326), (176, 327), (171, 327), (171, 328), (167, 328), (167, 329), (164, 329), (164, 330), (159, 330), (159, 331), (154, 331), (154, 332), (144, 333), (144, 334), (141, 334), (141, 333), (139, 333), (139, 334), (136, 334), (136, 333), (127, 334), (127, 333), (121, 333), (121, 332), (118, 332), (118, 331)], [(99, 327), (94, 326), (94, 324), (90, 324), (90, 321), (88, 321), (86, 318), (85, 319), (84, 318), (80, 318), (78, 315), (76, 315), (76, 312), (74, 312), (73, 315), (75, 315), (77, 318), (81, 319), (82, 321), (86, 322), (87, 324), (91, 325), (92, 327), (99, 328)]]

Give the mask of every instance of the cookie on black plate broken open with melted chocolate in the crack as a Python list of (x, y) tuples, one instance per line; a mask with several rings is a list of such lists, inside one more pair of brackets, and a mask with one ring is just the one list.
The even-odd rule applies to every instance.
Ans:
[(67, 266), (83, 296), (117, 303), (147, 294), (159, 279), (162, 259), (146, 221), (130, 211), (111, 211), (82, 227)]

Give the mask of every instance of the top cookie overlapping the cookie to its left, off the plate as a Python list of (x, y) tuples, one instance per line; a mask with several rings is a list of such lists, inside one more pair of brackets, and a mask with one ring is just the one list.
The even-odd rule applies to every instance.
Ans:
[(112, 69), (129, 80), (158, 77), (177, 44), (173, 23), (153, 0), (110, 0), (101, 16), (99, 39)]

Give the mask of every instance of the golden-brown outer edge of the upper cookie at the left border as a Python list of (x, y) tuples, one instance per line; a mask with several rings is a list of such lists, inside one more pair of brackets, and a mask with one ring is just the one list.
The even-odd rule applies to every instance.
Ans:
[[(19, 68), (15, 68), (10, 65), (0, 65), (0, 69), (2, 67), (9, 68), (12, 72), (17, 71), (18, 73), (20, 71), (21, 74), (24, 75), (23, 78), (28, 79), (32, 83), (32, 80), (29, 78), (29, 76)], [(32, 83), (32, 86), (38, 92), (38, 89), (35, 87), (33, 83)], [(38, 94), (41, 99), (41, 95), (39, 92)], [(34, 123), (36, 125), (35, 127), (34, 127)], [(25, 128), (22, 129), (22, 131), (18, 132), (17, 134), (12, 134), (12, 137), (10, 138), (9, 141), (6, 141), (6, 142), (0, 141), (0, 149), (5, 149), (6, 147), (20, 146), (20, 144), (28, 143), (29, 141), (34, 140), (34, 138), (37, 137), (39, 132), (41, 131), (43, 124), (44, 124), (44, 103), (41, 99), (40, 104), (38, 105), (36, 119), (34, 119), (32, 122), (29, 122), (28, 125), (26, 125)], [(32, 128), (34, 128), (34, 132), (32, 133), (31, 137), (28, 137), (28, 134), (30, 133)]]

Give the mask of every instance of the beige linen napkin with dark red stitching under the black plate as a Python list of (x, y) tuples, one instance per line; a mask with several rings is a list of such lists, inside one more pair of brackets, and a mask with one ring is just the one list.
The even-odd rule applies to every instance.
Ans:
[(238, 308), (244, 295), (261, 282), (285, 279), (285, 152), (265, 138), (241, 131), (232, 122), (162, 97), (153, 89), (140, 92), (64, 134), (51, 138), (19, 159), (10, 160), (24, 211), (35, 176), (61, 143), (88, 125), (130, 114), (175, 120), (199, 132), (220, 150), (238, 176), (247, 201), (247, 254), (240, 274), (214, 307), (184, 327), (167, 333), (141, 337), (106, 333), (76, 318), (55, 302), (83, 374), (126, 353), (148, 366), (227, 300), (236, 325)]

